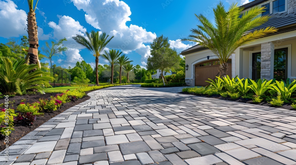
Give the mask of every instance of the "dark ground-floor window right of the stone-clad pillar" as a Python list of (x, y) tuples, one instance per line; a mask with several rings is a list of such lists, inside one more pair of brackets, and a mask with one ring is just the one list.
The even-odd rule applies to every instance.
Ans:
[(274, 78), (276, 80), (286, 80), (288, 78), (287, 66), (288, 48), (274, 50)]

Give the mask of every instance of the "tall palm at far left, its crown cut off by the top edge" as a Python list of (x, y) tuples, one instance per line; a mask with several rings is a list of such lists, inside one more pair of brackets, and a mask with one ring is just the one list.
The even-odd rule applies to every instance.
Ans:
[[(38, 4), (38, 0), (35, 4), (35, 8), (33, 7), (34, 0), (28, 0), (29, 5), (29, 12), (28, 12), (28, 35), (29, 35), (29, 50), (26, 57), (26, 62), (29, 64), (37, 64), (38, 68), (40, 69), (41, 65), (38, 59), (38, 30), (37, 30), (37, 22), (36, 22), (36, 13), (35, 9)], [(33, 69), (33, 71), (36, 70), (36, 68)]]

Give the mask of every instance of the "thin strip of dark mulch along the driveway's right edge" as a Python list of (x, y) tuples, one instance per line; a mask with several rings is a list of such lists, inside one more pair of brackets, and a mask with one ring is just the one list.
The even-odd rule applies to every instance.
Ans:
[(282, 109), (288, 109), (288, 110), (295, 110), (294, 108), (292, 108), (292, 106), (289, 103), (284, 103), (283, 106), (281, 107), (275, 107), (273, 105), (271, 105), (270, 103), (268, 103), (267, 101), (263, 101), (261, 103), (254, 103), (252, 100), (250, 99), (245, 99), (245, 98), (237, 98), (237, 99), (232, 99), (232, 98), (224, 98), (221, 95), (202, 95), (202, 94), (194, 94), (194, 93), (188, 93), (188, 92), (179, 92), (180, 94), (186, 94), (186, 95), (194, 95), (194, 96), (202, 96), (202, 97), (206, 97), (206, 98), (216, 98), (216, 99), (220, 99), (220, 100), (229, 100), (229, 101), (236, 101), (236, 102), (240, 102), (240, 103), (248, 103), (248, 104), (255, 104), (255, 105), (263, 105), (263, 106), (267, 106), (267, 107), (274, 107), (274, 108), (282, 108)]

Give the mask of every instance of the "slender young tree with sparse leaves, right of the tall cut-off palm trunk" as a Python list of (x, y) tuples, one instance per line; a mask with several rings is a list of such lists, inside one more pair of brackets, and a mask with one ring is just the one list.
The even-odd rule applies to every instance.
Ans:
[(67, 47), (64, 47), (63, 41), (67, 41), (67, 39), (66, 38), (60, 39), (57, 43), (52, 41), (52, 46), (49, 46), (48, 42), (45, 42), (46, 47), (41, 48), (47, 55), (45, 56), (45, 58), (49, 59), (50, 73), (52, 72), (52, 56), (57, 56), (61, 52), (68, 50)]

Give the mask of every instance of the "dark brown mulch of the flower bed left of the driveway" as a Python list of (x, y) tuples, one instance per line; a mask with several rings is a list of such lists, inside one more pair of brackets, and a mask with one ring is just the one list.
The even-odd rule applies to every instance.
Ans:
[[(87, 91), (86, 94), (89, 92), (91, 91)], [(9, 98), (9, 101), (15, 100), (15, 103), (13, 103), (14, 106), (12, 107), (12, 104), (9, 104), (9, 108), (16, 108), (17, 105), (19, 105), (20, 102), (22, 102), (21, 100), (23, 99), (26, 100), (25, 103), (34, 103), (39, 101), (39, 98), (50, 99), (50, 96), (55, 96), (56, 94), (60, 94), (60, 93), (46, 93), (44, 95), (22, 95), (22, 96), (16, 95), (15, 97)], [(75, 102), (62, 104), (62, 106), (58, 108), (56, 111), (53, 111), (50, 113), (44, 113), (44, 115), (42, 116), (37, 116), (36, 121), (34, 121), (33, 125), (31, 126), (22, 125), (20, 123), (15, 124), (14, 126), (15, 131), (12, 131), (12, 133), (10, 134), (8, 145), (9, 146), (12, 145), (17, 140), (19, 140), (29, 132), (33, 131), (34, 129), (38, 128), (49, 119), (53, 118), (54, 116), (57, 116), (63, 111), (73, 107), (74, 105), (77, 105), (79, 103), (82, 103), (83, 101), (88, 100), (89, 98), (90, 98), (89, 96), (85, 96), (83, 98), (76, 100)], [(4, 99), (0, 99), (0, 103), (4, 103)], [(0, 151), (4, 149), (5, 149), (4, 138), (0, 137)]]

